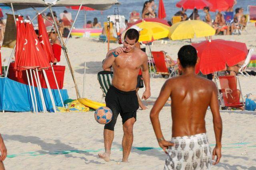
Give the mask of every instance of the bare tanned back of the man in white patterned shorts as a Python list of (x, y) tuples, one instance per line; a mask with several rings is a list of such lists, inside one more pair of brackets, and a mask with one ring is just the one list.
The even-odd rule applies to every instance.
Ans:
[(172, 137), (205, 133), (204, 117), (214, 83), (197, 75), (168, 80), (172, 99)]

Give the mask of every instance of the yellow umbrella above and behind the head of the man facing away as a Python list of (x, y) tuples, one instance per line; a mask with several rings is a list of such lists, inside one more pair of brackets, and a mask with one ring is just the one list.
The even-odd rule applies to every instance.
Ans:
[(192, 39), (215, 35), (215, 29), (200, 20), (187, 20), (175, 23), (169, 28), (168, 37), (172, 40)]

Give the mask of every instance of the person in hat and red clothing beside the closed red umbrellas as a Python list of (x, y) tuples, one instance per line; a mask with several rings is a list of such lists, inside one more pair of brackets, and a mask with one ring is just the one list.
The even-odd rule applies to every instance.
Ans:
[(55, 57), (54, 64), (60, 62), (60, 55), (61, 55), (61, 43), (60, 40), (58, 39), (58, 36), (56, 35), (56, 32), (54, 30), (54, 27), (48, 26), (46, 27), (46, 31), (48, 33), (48, 37), (52, 44), (52, 51)]

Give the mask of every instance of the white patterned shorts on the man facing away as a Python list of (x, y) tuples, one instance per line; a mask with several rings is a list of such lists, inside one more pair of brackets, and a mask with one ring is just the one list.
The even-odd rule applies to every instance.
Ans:
[(164, 170), (209, 170), (212, 152), (206, 133), (173, 137), (168, 147)]

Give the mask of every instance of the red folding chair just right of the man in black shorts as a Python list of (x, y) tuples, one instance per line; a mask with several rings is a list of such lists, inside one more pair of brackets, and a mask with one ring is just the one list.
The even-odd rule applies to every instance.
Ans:
[(165, 61), (164, 55), (165, 55), (164, 51), (152, 51), (154, 65), (156, 67), (155, 74), (162, 74), (162, 76), (169, 75), (169, 77), (176, 76), (174, 67), (167, 67), (167, 63)]

